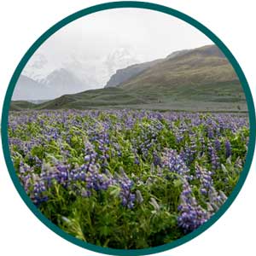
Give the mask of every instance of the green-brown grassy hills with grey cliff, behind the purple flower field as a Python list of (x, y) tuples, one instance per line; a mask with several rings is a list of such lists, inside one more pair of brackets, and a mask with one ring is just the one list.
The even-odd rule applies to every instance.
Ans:
[[(65, 80), (62, 86), (71, 83)], [(215, 45), (184, 49), (164, 59), (121, 68), (103, 89), (63, 93), (49, 102), (27, 107), (247, 111), (239, 79)], [(21, 108), (24, 108), (24, 102), (12, 102), (11, 109)]]

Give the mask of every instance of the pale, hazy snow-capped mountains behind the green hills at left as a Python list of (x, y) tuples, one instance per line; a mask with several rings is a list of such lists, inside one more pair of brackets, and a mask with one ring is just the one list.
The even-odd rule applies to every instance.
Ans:
[[(115, 49), (107, 56), (93, 59), (74, 52), (70, 55), (36, 52), (21, 73), (13, 99), (48, 100), (102, 88), (118, 69), (138, 62), (139, 58), (129, 47)], [(36, 84), (35, 87), (32, 84)]]

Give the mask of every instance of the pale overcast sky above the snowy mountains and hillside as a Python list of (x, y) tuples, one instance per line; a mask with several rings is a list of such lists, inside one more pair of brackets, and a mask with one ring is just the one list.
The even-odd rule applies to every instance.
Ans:
[(110, 9), (75, 20), (42, 46), (49, 54), (81, 52), (88, 58), (129, 46), (142, 61), (165, 57), (177, 49), (212, 44), (183, 20), (148, 9)]

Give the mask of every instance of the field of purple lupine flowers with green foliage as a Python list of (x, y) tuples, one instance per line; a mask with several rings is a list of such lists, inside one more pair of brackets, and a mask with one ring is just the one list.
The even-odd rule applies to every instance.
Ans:
[(9, 148), (33, 203), (102, 247), (174, 241), (224, 204), (242, 171), (247, 116), (143, 110), (9, 113)]

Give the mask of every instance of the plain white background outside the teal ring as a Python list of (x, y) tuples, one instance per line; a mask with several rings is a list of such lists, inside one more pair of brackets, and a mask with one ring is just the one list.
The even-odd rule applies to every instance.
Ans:
[[(254, 1), (153, 1), (199, 20), (214, 32), (236, 56), (256, 97)], [(57, 21), (96, 3), (97, 0), (22, 0), (0, 3), (0, 108), (15, 67), (33, 42)], [(152, 20), (154, 22), (154, 20)], [(254, 36), (254, 37), (253, 37)], [(255, 255), (256, 162), (229, 210), (201, 236), (158, 255), (216, 256)], [(0, 150), (0, 254), (96, 255), (55, 235), (21, 200), (9, 177)]]

